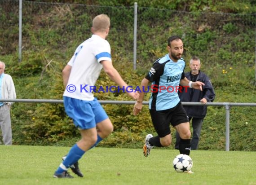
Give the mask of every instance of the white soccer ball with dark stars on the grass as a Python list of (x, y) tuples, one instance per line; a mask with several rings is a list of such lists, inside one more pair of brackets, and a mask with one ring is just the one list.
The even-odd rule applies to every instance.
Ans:
[(176, 172), (188, 172), (193, 166), (193, 161), (188, 155), (178, 154), (172, 164)]

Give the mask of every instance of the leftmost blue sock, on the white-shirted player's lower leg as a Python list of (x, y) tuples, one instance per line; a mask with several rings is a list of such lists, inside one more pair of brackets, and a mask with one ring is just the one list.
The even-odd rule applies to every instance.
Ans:
[(66, 156), (66, 159), (61, 163), (61, 165), (57, 169), (57, 173), (60, 174), (62, 172), (67, 171), (72, 164), (76, 163), (85, 153), (84, 150), (80, 149), (77, 144), (73, 145), (71, 150)]

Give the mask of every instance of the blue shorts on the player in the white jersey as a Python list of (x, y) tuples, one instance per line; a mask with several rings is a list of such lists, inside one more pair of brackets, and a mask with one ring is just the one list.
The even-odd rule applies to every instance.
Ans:
[(97, 123), (108, 118), (97, 98), (93, 101), (84, 101), (64, 96), (63, 100), (66, 114), (73, 119), (75, 127), (79, 129), (94, 128)]

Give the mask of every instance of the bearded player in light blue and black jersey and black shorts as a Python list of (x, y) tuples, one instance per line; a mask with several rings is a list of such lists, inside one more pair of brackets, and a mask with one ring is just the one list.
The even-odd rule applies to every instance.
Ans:
[[(150, 115), (158, 136), (146, 136), (143, 154), (147, 157), (154, 147), (167, 147), (172, 142), (170, 123), (180, 134), (180, 153), (190, 154), (190, 123), (178, 96), (179, 84), (202, 91), (202, 82), (191, 82), (185, 78), (185, 61), (181, 58), (183, 42), (178, 36), (168, 38), (168, 54), (154, 62), (150, 72), (141, 81), (140, 89), (151, 82), (154, 91), (150, 96)], [(158, 88), (158, 90), (155, 90)], [(133, 114), (142, 109), (144, 91), (134, 105)]]

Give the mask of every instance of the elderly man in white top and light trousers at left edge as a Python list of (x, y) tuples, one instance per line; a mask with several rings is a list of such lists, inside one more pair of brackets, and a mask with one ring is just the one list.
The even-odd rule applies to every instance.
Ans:
[[(0, 99), (15, 99), (13, 79), (4, 73), (5, 64), (0, 61)], [(0, 126), (4, 145), (12, 145), (11, 109), (12, 102), (0, 102)]]

